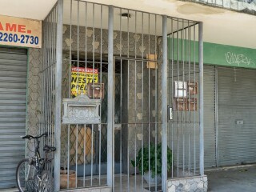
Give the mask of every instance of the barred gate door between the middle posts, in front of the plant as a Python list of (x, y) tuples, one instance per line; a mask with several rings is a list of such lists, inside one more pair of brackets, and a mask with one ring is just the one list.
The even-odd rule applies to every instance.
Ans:
[[(115, 82), (120, 92), (114, 93), (114, 111), (120, 118), (114, 121), (115, 134), (114, 146), (114, 191), (158, 191), (161, 184), (157, 175), (146, 182), (149, 175), (143, 169), (161, 173), (159, 158), (161, 150), (161, 120), (159, 120), (159, 70), (158, 67), (149, 68), (151, 65), (160, 66), (157, 60), (143, 58), (115, 57), (115, 68), (121, 71), (121, 83)], [(120, 97), (116, 98), (116, 95)], [(118, 113), (116, 113), (118, 112)], [(160, 148), (159, 148), (160, 147)], [(146, 166), (147, 161), (150, 168)], [(151, 161), (151, 162), (150, 162)], [(156, 169), (154, 169), (154, 163)], [(137, 166), (134, 166), (137, 165)], [(138, 166), (140, 165), (140, 166)], [(141, 170), (142, 169), (142, 170)], [(160, 187), (159, 187), (160, 184)]]

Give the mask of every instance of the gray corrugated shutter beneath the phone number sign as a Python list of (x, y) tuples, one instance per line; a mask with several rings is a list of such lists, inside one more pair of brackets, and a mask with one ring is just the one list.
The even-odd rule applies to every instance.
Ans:
[(0, 188), (16, 186), (16, 166), (25, 156), (26, 71), (26, 50), (0, 48)]

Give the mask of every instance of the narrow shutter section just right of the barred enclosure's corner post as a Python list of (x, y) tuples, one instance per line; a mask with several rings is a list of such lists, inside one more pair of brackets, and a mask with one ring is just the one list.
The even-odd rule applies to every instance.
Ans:
[(204, 66), (205, 167), (216, 166), (215, 68)]

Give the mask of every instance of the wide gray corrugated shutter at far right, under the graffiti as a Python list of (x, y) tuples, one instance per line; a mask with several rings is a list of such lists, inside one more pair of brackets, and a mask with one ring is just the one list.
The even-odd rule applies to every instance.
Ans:
[(255, 85), (256, 70), (218, 68), (220, 166), (256, 162)]

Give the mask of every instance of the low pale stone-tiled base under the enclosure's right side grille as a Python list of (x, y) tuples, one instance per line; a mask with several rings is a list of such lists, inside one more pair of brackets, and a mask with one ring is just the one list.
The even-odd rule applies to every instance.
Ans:
[(207, 176), (169, 179), (166, 182), (168, 192), (207, 192)]

